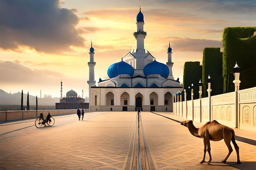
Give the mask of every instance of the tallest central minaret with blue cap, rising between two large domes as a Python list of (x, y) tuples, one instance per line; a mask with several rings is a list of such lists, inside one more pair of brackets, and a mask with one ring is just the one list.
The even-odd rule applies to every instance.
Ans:
[(136, 68), (142, 70), (145, 66), (145, 49), (144, 49), (144, 39), (146, 38), (147, 33), (144, 31), (144, 15), (141, 13), (141, 6), (139, 6), (139, 13), (137, 14), (137, 32), (133, 33), (133, 36), (137, 40), (137, 49), (136, 53), (141, 53), (136, 57)]

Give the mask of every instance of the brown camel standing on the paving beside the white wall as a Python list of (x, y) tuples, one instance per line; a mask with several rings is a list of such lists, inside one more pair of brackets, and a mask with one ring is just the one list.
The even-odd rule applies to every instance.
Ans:
[(210, 146), (210, 141), (220, 141), (222, 139), (224, 139), (227, 148), (229, 149), (229, 153), (227, 154), (227, 157), (225, 157), (225, 159), (223, 159), (221, 162), (222, 163), (226, 163), (229, 155), (231, 154), (231, 152), (233, 151), (230, 141), (232, 141), (232, 143), (234, 144), (234, 147), (236, 149), (236, 155), (237, 155), (237, 163), (240, 163), (240, 159), (239, 159), (239, 147), (236, 144), (235, 141), (235, 132), (233, 129), (224, 126), (222, 124), (219, 124), (218, 121), (213, 120), (213, 121), (208, 121), (206, 124), (204, 124), (202, 127), (200, 128), (196, 128), (193, 125), (193, 121), (192, 120), (186, 120), (186, 121), (182, 121), (181, 125), (186, 126), (187, 128), (189, 128), (189, 132), (191, 132), (191, 134), (195, 137), (200, 137), (204, 139), (204, 158), (200, 163), (205, 162), (205, 154), (206, 154), (206, 150), (209, 153), (209, 161), (211, 162), (211, 146)]

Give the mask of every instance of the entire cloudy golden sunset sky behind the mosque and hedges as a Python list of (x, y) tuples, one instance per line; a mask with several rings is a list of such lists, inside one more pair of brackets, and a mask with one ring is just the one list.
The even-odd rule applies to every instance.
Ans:
[(144, 15), (145, 49), (183, 81), (185, 62), (206, 47), (220, 47), (226, 27), (256, 26), (254, 0), (0, 0), (0, 89), (61, 97), (88, 96), (89, 50), (95, 80), (136, 49), (136, 16)]

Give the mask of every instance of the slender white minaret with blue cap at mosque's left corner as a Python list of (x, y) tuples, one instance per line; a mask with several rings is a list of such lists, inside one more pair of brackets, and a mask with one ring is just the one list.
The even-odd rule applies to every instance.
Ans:
[(91, 48), (90, 48), (90, 62), (88, 62), (89, 66), (89, 81), (87, 83), (89, 84), (89, 100), (91, 98), (91, 87), (96, 86), (96, 81), (94, 80), (94, 66), (96, 62), (94, 62), (94, 48), (92, 48), (92, 41), (91, 41)]

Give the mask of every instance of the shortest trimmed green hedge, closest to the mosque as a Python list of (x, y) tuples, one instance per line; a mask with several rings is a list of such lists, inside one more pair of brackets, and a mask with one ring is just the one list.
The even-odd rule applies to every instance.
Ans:
[(185, 62), (183, 73), (183, 89), (186, 89), (187, 100), (191, 100), (191, 84), (194, 85), (194, 99), (199, 98), (199, 80), (202, 78), (200, 62)]

